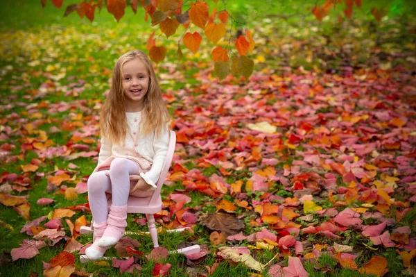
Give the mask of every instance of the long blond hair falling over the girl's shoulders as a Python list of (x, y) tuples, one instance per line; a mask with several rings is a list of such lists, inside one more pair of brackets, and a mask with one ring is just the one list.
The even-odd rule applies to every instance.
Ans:
[(125, 62), (135, 58), (139, 58), (146, 65), (149, 76), (148, 92), (144, 96), (144, 109), (141, 111), (140, 132), (148, 134), (155, 130), (157, 137), (159, 137), (162, 131), (168, 128), (171, 121), (171, 115), (169, 115), (166, 103), (162, 99), (162, 90), (159, 83), (157, 83), (155, 71), (149, 58), (142, 51), (129, 51), (116, 61), (110, 93), (101, 109), (101, 134), (114, 144), (124, 142), (128, 129), (125, 116), (122, 69)]

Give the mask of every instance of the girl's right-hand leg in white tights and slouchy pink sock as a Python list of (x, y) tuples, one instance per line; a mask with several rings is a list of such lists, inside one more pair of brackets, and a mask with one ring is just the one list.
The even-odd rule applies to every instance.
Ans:
[(130, 174), (137, 174), (139, 167), (132, 160), (116, 158), (110, 165), (112, 183), (112, 205), (107, 219), (107, 228), (98, 246), (112, 246), (124, 235), (127, 226), (127, 200), (130, 192)]

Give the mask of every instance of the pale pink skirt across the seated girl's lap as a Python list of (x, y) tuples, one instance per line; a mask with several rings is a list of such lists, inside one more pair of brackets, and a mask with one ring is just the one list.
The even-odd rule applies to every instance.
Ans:
[[(99, 167), (96, 167), (96, 169), (94, 169), (94, 172), (110, 169), (111, 162), (115, 158), (125, 158), (125, 159), (128, 159), (128, 160), (132, 160), (133, 162), (135, 162), (137, 164), (137, 167), (139, 167), (139, 172), (137, 172), (137, 175), (130, 175), (130, 194), (129, 195), (130, 196), (135, 196), (135, 197), (151, 196), (153, 194), (153, 190), (154, 190), (151, 185), (148, 186), (147, 190), (136, 190), (135, 192), (132, 192), (132, 190), (135, 187), (135, 185), (137, 184), (139, 178), (141, 178), (139, 174), (141, 174), (141, 172), (146, 173), (152, 167), (152, 164), (143, 157), (132, 157), (132, 156), (114, 157), (114, 156), (110, 156)], [(107, 190), (107, 192), (111, 193), (111, 189)]]

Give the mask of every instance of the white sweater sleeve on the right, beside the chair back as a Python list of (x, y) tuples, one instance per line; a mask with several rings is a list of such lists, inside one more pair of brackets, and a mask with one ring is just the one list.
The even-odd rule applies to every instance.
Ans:
[(160, 172), (168, 153), (168, 144), (169, 144), (169, 130), (166, 128), (160, 137), (153, 137), (153, 149), (155, 150), (155, 156), (153, 157), (152, 168), (146, 173), (141, 173), (141, 178), (144, 178), (144, 181), (156, 187), (157, 180), (159, 180)]

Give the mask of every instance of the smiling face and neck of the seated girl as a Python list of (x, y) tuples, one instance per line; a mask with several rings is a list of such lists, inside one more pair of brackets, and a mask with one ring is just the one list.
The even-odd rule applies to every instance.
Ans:
[(125, 95), (126, 112), (139, 112), (144, 108), (144, 96), (148, 92), (149, 74), (144, 62), (139, 58), (125, 62), (121, 69)]

